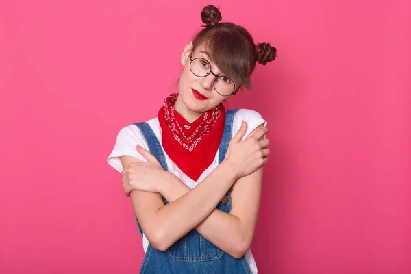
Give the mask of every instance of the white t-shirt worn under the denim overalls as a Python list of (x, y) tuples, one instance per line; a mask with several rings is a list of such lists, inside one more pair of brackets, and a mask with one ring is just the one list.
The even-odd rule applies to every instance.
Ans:
[[(240, 109), (234, 115), (232, 136), (236, 135), (236, 133), (241, 127), (243, 120), (247, 122), (247, 133), (242, 138), (242, 140), (247, 138), (250, 132), (252, 132), (254, 129), (256, 129), (256, 127), (258, 127), (262, 123), (264, 123), (264, 127), (267, 124), (267, 122), (264, 119), (262, 119), (262, 116), (258, 112), (254, 110)], [(160, 145), (161, 145), (162, 132), (161, 132), (160, 124), (158, 122), (158, 117), (147, 121), (147, 123), (149, 123), (151, 129), (153, 129), (153, 132), (155, 136), (157, 136), (158, 140), (160, 141)], [(149, 147), (147, 145), (145, 138), (142, 136), (140, 129), (136, 125), (128, 125), (127, 127), (123, 127), (123, 129), (121, 129), (119, 134), (117, 135), (116, 145), (114, 145), (114, 149), (112, 153), (110, 153), (110, 155), (108, 156), (108, 164), (110, 164), (110, 166), (114, 167), (114, 169), (116, 169), (117, 171), (121, 173), (121, 171), (123, 171), (123, 166), (121, 165), (121, 161), (120, 161), (121, 156), (132, 156), (142, 161), (146, 161), (145, 158), (143, 158), (142, 155), (140, 155), (140, 153), (137, 152), (136, 150), (137, 144), (139, 144), (144, 149), (149, 150)], [(165, 151), (164, 151), (164, 155), (166, 158), (167, 167), (169, 169), (169, 172), (177, 176), (189, 188), (194, 188), (195, 186), (197, 186), (197, 184), (203, 181), (203, 179), (206, 178), (219, 165), (219, 151), (217, 151), (216, 157), (214, 158), (214, 161), (212, 162), (212, 164), (205, 171), (203, 171), (203, 173), (201, 174), (201, 176), (199, 177), (197, 181), (193, 181), (185, 173), (183, 173), (181, 169), (179, 169), (178, 166), (174, 164), (174, 162), (169, 158), (169, 155), (167, 155)], [(147, 237), (144, 234), (142, 237), (142, 245), (143, 245), (144, 251), (147, 251), (147, 247), (149, 246), (149, 241), (147, 240)], [(256, 274), (257, 273), (256, 261), (253, 258), (251, 250), (247, 251), (247, 253), (245, 254), (245, 258), (247, 260), (247, 263), (249, 264), (251, 272), (253, 274)]]

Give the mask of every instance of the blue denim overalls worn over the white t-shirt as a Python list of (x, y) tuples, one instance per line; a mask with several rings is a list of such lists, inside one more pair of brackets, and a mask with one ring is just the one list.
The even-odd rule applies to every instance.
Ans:
[[(225, 128), (219, 147), (219, 163), (225, 158), (225, 153), (232, 138), (232, 122), (237, 110), (225, 112)], [(149, 151), (158, 159), (163, 169), (168, 171), (164, 151), (158, 138), (148, 123), (136, 123), (149, 145)], [(168, 202), (163, 198), (164, 204)], [(230, 191), (221, 199), (217, 208), (229, 213), (232, 200)], [(136, 216), (136, 214), (134, 214)], [(138, 230), (142, 229), (136, 218)], [(140, 273), (159, 274), (214, 274), (214, 273), (249, 273), (251, 271), (245, 256), (236, 259), (206, 240), (197, 230), (192, 229), (166, 251), (158, 251), (151, 244), (147, 247), (142, 261)]]

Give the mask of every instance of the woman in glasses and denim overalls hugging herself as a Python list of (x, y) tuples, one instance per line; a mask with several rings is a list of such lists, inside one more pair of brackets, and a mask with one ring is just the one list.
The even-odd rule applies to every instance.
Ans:
[[(223, 101), (251, 88), (256, 62), (275, 59), (246, 29), (219, 23), (212, 5), (206, 27), (181, 56), (179, 93), (158, 117), (119, 132), (108, 162), (121, 172), (143, 237), (140, 273), (257, 273), (250, 251), (269, 140), (253, 110)], [(201, 184), (200, 184), (201, 182)]]

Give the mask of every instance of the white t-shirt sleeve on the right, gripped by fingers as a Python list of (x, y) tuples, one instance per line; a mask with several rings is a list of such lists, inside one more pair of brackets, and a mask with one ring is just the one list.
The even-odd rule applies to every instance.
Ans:
[(247, 122), (247, 133), (242, 140), (247, 138), (247, 136), (249, 136), (249, 134), (262, 123), (264, 123), (264, 127), (267, 125), (267, 121), (262, 118), (260, 113), (255, 110), (247, 110), (242, 108), (234, 115), (232, 136), (236, 135), (238, 130), (240, 130), (243, 120)]

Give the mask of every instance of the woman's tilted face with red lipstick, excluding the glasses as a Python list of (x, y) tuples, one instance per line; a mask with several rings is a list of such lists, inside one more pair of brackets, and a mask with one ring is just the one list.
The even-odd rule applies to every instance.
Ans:
[[(179, 97), (184, 105), (192, 112), (206, 112), (212, 110), (229, 96), (219, 95), (214, 90), (216, 76), (212, 73), (206, 77), (197, 77), (190, 70), (190, 57), (204, 58), (211, 65), (212, 72), (216, 75), (223, 75), (219, 67), (211, 62), (210, 56), (203, 45), (200, 45), (192, 52), (192, 42), (188, 42), (182, 53), (181, 62), (184, 66), (182, 76), (179, 79)], [(207, 64), (208, 66), (208, 64)], [(218, 79), (220, 81), (221, 79)], [(237, 85), (236, 85), (237, 86)]]

